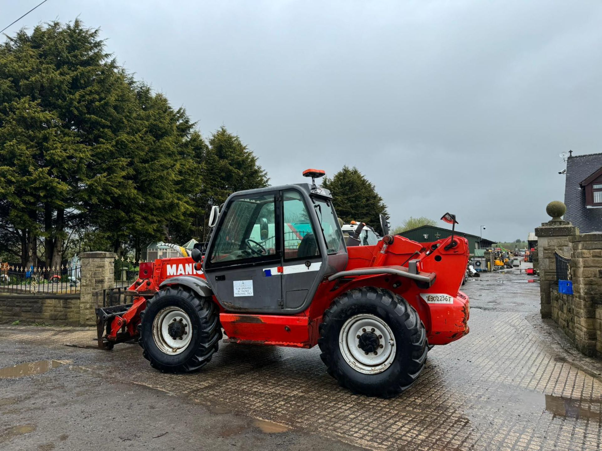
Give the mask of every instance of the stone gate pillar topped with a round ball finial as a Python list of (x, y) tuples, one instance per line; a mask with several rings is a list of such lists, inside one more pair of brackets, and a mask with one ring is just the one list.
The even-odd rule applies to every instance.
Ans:
[(548, 222), (542, 222), (535, 229), (537, 236), (537, 253), (539, 261), (539, 294), (541, 297), (541, 317), (550, 318), (551, 299), (550, 287), (556, 282), (556, 257), (554, 252), (559, 249), (570, 253), (569, 237), (579, 235), (579, 229), (569, 221), (563, 221), (562, 215), (566, 206), (554, 200), (548, 204), (545, 211), (552, 217)]

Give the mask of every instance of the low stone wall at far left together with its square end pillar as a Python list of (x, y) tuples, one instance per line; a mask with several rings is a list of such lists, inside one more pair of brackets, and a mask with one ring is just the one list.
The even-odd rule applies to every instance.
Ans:
[(96, 301), (102, 290), (113, 287), (115, 254), (85, 252), (81, 259), (81, 282), (77, 295), (39, 293), (0, 296), (0, 322), (43, 322), (52, 325), (96, 325)]

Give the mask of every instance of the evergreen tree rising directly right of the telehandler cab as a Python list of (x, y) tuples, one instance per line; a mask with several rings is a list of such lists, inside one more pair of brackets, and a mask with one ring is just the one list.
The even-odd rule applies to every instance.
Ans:
[(356, 167), (343, 166), (332, 178), (324, 177), (321, 185), (332, 193), (337, 215), (345, 222), (361, 221), (380, 230), (380, 213), (389, 218), (374, 184)]

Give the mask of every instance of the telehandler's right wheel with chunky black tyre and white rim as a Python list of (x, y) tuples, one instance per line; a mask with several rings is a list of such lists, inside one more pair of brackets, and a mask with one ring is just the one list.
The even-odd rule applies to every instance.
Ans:
[(318, 345), (328, 373), (342, 387), (380, 397), (414, 384), (428, 352), (417, 311), (401, 296), (374, 287), (353, 289), (330, 304)]

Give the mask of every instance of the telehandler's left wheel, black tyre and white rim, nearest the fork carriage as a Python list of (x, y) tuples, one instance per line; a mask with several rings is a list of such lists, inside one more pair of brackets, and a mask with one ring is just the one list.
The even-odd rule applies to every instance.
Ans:
[(222, 327), (211, 297), (173, 286), (146, 301), (138, 333), (144, 358), (152, 367), (181, 373), (196, 371), (211, 360), (222, 338)]

